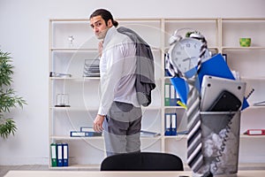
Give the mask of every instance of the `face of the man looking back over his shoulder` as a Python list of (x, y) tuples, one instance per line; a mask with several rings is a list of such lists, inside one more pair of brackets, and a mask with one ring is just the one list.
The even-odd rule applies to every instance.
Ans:
[(93, 28), (93, 31), (95, 33), (95, 36), (98, 39), (104, 39), (104, 37), (107, 34), (108, 29), (110, 28), (111, 20), (108, 21), (108, 24), (105, 23), (104, 19), (102, 19), (102, 16), (95, 16), (90, 19), (90, 27)]

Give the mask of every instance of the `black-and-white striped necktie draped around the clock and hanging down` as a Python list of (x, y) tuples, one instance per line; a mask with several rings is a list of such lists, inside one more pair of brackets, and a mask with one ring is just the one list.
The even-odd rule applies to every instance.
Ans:
[(189, 85), (189, 93), (187, 98), (187, 164), (192, 168), (194, 173), (198, 173), (203, 165), (202, 142), (201, 142), (201, 117), (200, 117), (200, 93), (196, 88), (196, 80), (201, 70), (201, 58), (207, 50), (207, 42), (202, 35), (192, 34), (197, 40), (201, 40), (202, 46), (200, 56), (198, 58), (197, 72), (191, 78), (187, 78), (185, 74), (178, 72), (178, 66), (173, 65), (172, 59), (166, 56), (166, 68), (173, 77), (182, 77)]

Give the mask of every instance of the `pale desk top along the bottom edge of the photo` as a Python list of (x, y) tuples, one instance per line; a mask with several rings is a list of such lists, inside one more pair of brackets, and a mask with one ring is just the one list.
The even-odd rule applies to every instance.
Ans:
[[(4, 177), (178, 177), (192, 176), (191, 172), (155, 172), (155, 171), (10, 171)], [(265, 170), (239, 171), (238, 177), (264, 177)]]

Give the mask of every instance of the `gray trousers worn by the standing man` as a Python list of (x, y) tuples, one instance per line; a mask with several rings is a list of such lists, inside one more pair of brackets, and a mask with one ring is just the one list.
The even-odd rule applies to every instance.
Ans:
[(113, 102), (103, 122), (107, 156), (140, 151), (141, 109)]

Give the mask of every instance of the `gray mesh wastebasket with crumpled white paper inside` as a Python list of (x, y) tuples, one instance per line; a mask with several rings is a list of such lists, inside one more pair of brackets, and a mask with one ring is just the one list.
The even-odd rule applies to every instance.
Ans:
[(200, 115), (203, 166), (199, 173), (237, 176), (240, 112), (200, 112)]

